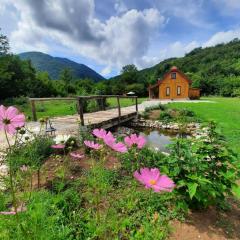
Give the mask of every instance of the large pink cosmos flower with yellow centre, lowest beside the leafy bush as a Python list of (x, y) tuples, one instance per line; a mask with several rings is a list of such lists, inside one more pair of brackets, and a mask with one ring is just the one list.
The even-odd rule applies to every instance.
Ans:
[(141, 168), (140, 173), (135, 171), (133, 176), (146, 188), (152, 188), (154, 192), (171, 192), (175, 187), (174, 182), (166, 175), (161, 175), (157, 168)]

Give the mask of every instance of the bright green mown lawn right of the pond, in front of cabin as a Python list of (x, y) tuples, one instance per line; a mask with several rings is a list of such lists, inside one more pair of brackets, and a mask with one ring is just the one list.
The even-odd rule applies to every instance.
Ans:
[(171, 107), (194, 111), (204, 121), (214, 120), (229, 145), (240, 154), (240, 98), (208, 97), (215, 103), (171, 103)]

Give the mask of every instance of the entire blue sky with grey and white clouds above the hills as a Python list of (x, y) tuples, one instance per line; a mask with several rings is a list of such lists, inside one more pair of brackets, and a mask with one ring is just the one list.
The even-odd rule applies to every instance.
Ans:
[(240, 38), (240, 0), (0, 0), (14, 53), (42, 51), (105, 77)]

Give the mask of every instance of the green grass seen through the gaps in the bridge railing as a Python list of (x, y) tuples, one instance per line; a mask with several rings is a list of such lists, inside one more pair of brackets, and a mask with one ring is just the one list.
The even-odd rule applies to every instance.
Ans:
[[(142, 103), (146, 98), (139, 98), (138, 103)], [(109, 98), (107, 99), (109, 107), (117, 107), (117, 99)], [(127, 107), (135, 104), (135, 100), (129, 98), (120, 99), (121, 107)], [(26, 116), (31, 117), (32, 112), (30, 104), (17, 106)], [(55, 117), (55, 116), (65, 116), (73, 115), (77, 113), (76, 101), (46, 101), (46, 102), (36, 102), (37, 117)]]

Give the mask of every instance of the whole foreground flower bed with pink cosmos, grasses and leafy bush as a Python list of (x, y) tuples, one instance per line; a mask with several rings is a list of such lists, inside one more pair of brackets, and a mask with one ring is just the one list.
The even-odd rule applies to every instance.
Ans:
[(24, 116), (1, 114), (8, 111), (3, 130), (16, 142), (3, 158), (10, 174), (1, 178), (1, 239), (161, 240), (189, 208), (225, 208), (227, 196), (240, 194), (239, 162), (214, 123), (206, 136), (176, 139), (166, 156), (137, 135), (80, 129), (79, 140), (52, 139), (15, 130), (6, 126), (23, 126)]

